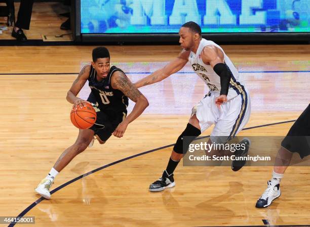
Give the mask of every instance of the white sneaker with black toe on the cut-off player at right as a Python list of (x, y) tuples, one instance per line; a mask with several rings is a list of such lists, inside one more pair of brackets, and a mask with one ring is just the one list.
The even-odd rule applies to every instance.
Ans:
[(267, 189), (256, 202), (257, 208), (265, 208), (281, 196), (280, 184), (272, 186), (271, 181), (268, 180), (267, 185)]

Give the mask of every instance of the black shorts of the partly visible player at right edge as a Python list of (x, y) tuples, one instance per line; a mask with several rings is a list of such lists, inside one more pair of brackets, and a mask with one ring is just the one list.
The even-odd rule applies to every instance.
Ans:
[(297, 152), (300, 158), (310, 155), (310, 104), (292, 125), (281, 146)]

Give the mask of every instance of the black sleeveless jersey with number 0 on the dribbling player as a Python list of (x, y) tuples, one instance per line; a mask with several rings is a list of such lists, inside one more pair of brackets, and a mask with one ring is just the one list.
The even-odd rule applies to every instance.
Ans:
[(98, 82), (96, 69), (91, 66), (88, 77), (88, 84), (92, 91), (87, 100), (96, 104), (100, 111), (109, 115), (120, 112), (127, 113), (128, 97), (121, 90), (113, 89), (111, 86), (111, 76), (116, 71), (123, 72), (121, 69), (112, 66), (108, 75)]

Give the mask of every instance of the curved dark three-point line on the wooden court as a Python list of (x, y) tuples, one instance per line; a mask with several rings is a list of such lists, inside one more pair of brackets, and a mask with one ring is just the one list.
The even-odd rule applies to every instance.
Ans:
[[(249, 130), (249, 129), (253, 129), (253, 128), (260, 128), (260, 127), (267, 127), (267, 126), (271, 126), (271, 125), (277, 125), (277, 124), (285, 124), (285, 123), (290, 123), (290, 122), (294, 122), (296, 120), (288, 120), (288, 121), (281, 121), (281, 122), (275, 122), (275, 123), (269, 123), (269, 124), (262, 124), (262, 125), (256, 125), (256, 126), (252, 126), (252, 127), (247, 127), (247, 128), (244, 128), (242, 129), (243, 130)], [(196, 140), (198, 139), (204, 139), (204, 138), (209, 138), (210, 135), (206, 135), (204, 137), (200, 137), (200, 138), (197, 138)], [(59, 191), (60, 189), (70, 185), (71, 183), (75, 182), (76, 180), (79, 180), (83, 177), (86, 177), (92, 173), (95, 173), (99, 170), (102, 170), (102, 169), (105, 169), (109, 166), (112, 166), (112, 165), (115, 165), (115, 164), (118, 164), (120, 162), (124, 162), (124, 161), (127, 161), (129, 159), (132, 159), (132, 158), (135, 158), (135, 157), (139, 157), (139, 156), (142, 156), (142, 155), (145, 155), (145, 154), (148, 154), (148, 153), (151, 153), (151, 152), (154, 152), (154, 151), (159, 151), (159, 150), (162, 150), (162, 149), (165, 149), (165, 148), (168, 148), (168, 147), (172, 147), (174, 146), (175, 144), (170, 144), (170, 145), (166, 145), (166, 146), (163, 146), (163, 147), (159, 147), (159, 148), (155, 148), (155, 149), (152, 149), (152, 150), (149, 150), (149, 151), (144, 151), (142, 153), (138, 153), (138, 154), (135, 154), (135, 155), (131, 155), (129, 157), (126, 157), (126, 158), (123, 158), (123, 159), (120, 159), (120, 160), (117, 160), (117, 161), (114, 161), (114, 162), (111, 162), (111, 163), (108, 163), (106, 165), (103, 165), (101, 167), (98, 167), (92, 171), (89, 171), (83, 175), (80, 175), (78, 177), (75, 177), (69, 181), (67, 181), (66, 183), (58, 186), (57, 188), (55, 188), (54, 190), (51, 191), (51, 195), (54, 194), (55, 192)], [(30, 204), (27, 208), (25, 208), (18, 216), (16, 216), (16, 218), (20, 218), (20, 217), (23, 217), (27, 212), (29, 212), (33, 207), (35, 207), (37, 204), (41, 203), (43, 200), (45, 200), (43, 197), (37, 199), (36, 201), (34, 201), (32, 204)], [(17, 224), (17, 222), (11, 222), (8, 227), (13, 227), (15, 224)], [(266, 225), (247, 225), (249, 227), (259, 227), (259, 226), (266, 226)], [(301, 227), (301, 226), (310, 226), (310, 225), (268, 225), (268, 226), (279, 226), (279, 227), (286, 227), (286, 226), (294, 226), (294, 227)], [(203, 226), (201, 226), (203, 227)], [(207, 227), (207, 226), (205, 226)], [(219, 226), (212, 226), (212, 227), (219, 227)], [(226, 226), (226, 227), (244, 227), (244, 226), (239, 226), (239, 225), (235, 225), (235, 226)]]

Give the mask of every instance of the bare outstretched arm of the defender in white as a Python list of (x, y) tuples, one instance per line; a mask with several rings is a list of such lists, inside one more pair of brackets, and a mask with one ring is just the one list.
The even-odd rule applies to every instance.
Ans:
[(164, 68), (156, 70), (152, 74), (144, 77), (143, 79), (140, 79), (139, 81), (135, 83), (135, 86), (139, 88), (145, 85), (156, 83), (156, 82), (162, 81), (163, 79), (167, 78), (171, 74), (176, 73), (177, 71), (182, 69), (184, 65), (186, 65), (188, 61), (189, 53), (190, 51), (183, 50), (176, 59), (171, 61)]

